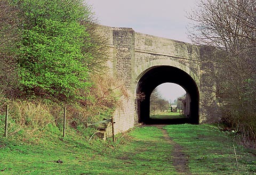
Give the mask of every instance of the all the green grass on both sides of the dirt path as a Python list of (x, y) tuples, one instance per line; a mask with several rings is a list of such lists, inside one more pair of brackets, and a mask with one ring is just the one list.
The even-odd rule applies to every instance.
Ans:
[[(183, 146), (193, 174), (255, 174), (255, 152), (235, 145), (211, 125), (170, 125), (165, 129)], [(43, 133), (42, 133), (43, 132)], [(50, 128), (34, 138), (0, 136), (0, 174), (177, 174), (173, 146), (156, 127), (140, 127), (117, 141), (89, 138), (73, 129), (65, 138)], [(63, 163), (57, 163), (58, 160)]]

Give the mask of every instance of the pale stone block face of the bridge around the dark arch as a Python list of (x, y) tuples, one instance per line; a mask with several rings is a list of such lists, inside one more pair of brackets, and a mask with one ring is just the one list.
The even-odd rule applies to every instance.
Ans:
[[(192, 101), (198, 104), (191, 104), (192, 107), (198, 107), (198, 122), (214, 120), (213, 111), (217, 106), (214, 105), (213, 99), (215, 82), (214, 79), (211, 79), (213, 65), (205, 64), (202, 61), (207, 56), (205, 49), (181, 41), (140, 34), (132, 28), (99, 25), (98, 31), (108, 40), (109, 74), (124, 82), (129, 94), (129, 97), (121, 98), (121, 105), (114, 113), (115, 133), (126, 131), (138, 124), (140, 120), (138, 111), (148, 110), (140, 109), (140, 106), (143, 105), (138, 104), (136, 94), (138, 88), (142, 86), (141, 84), (145, 83), (141, 78), (159, 66), (160, 68), (165, 66), (163, 68), (170, 68), (172, 71), (180, 70), (180, 72), (187, 74), (195, 84), (193, 85), (193, 93), (198, 94), (198, 98), (194, 102)], [(154, 74), (157, 73), (159, 72), (154, 72)], [(177, 76), (179, 75), (177, 74)], [(163, 78), (161, 80), (164, 81)], [(171, 79), (166, 79), (166, 82), (169, 81)], [(185, 90), (190, 92), (190, 86), (185, 81), (177, 80), (181, 85), (186, 85), (187, 89)], [(147, 84), (150, 85), (150, 82)], [(157, 80), (152, 80), (152, 84), (154, 84), (153, 87), (156, 86)], [(145, 87), (143, 88), (145, 89)], [(191, 98), (194, 98), (193, 95)]]

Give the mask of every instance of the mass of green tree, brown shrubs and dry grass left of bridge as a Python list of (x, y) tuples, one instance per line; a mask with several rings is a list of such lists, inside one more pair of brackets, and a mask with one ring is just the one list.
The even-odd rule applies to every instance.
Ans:
[(65, 106), (67, 127), (77, 131), (110, 118), (124, 90), (105, 73), (107, 40), (91, 7), (82, 0), (0, 0), (0, 7), (0, 110), (9, 104), (10, 137), (61, 130)]

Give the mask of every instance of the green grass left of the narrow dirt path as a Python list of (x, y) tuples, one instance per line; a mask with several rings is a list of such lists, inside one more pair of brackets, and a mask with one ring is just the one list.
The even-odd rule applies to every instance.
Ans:
[[(174, 172), (167, 153), (171, 146), (161, 130), (138, 128), (131, 136), (110, 140), (89, 139), (68, 130), (58, 130), (33, 141), (0, 138), (0, 174), (162, 174)], [(47, 136), (49, 134), (49, 136)], [(130, 140), (127, 142), (127, 140)], [(165, 148), (165, 151), (162, 149)], [(63, 163), (57, 163), (58, 160)]]

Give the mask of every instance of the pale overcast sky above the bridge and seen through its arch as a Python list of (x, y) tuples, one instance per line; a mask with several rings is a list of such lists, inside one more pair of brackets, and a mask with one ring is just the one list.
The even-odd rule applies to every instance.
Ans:
[[(87, 0), (98, 23), (110, 27), (130, 27), (135, 32), (190, 42), (186, 13), (196, 0)], [(180, 89), (180, 90), (179, 90)], [(159, 87), (166, 99), (174, 101), (185, 93), (181, 87), (165, 84)], [(175, 92), (175, 93), (173, 93)]]

